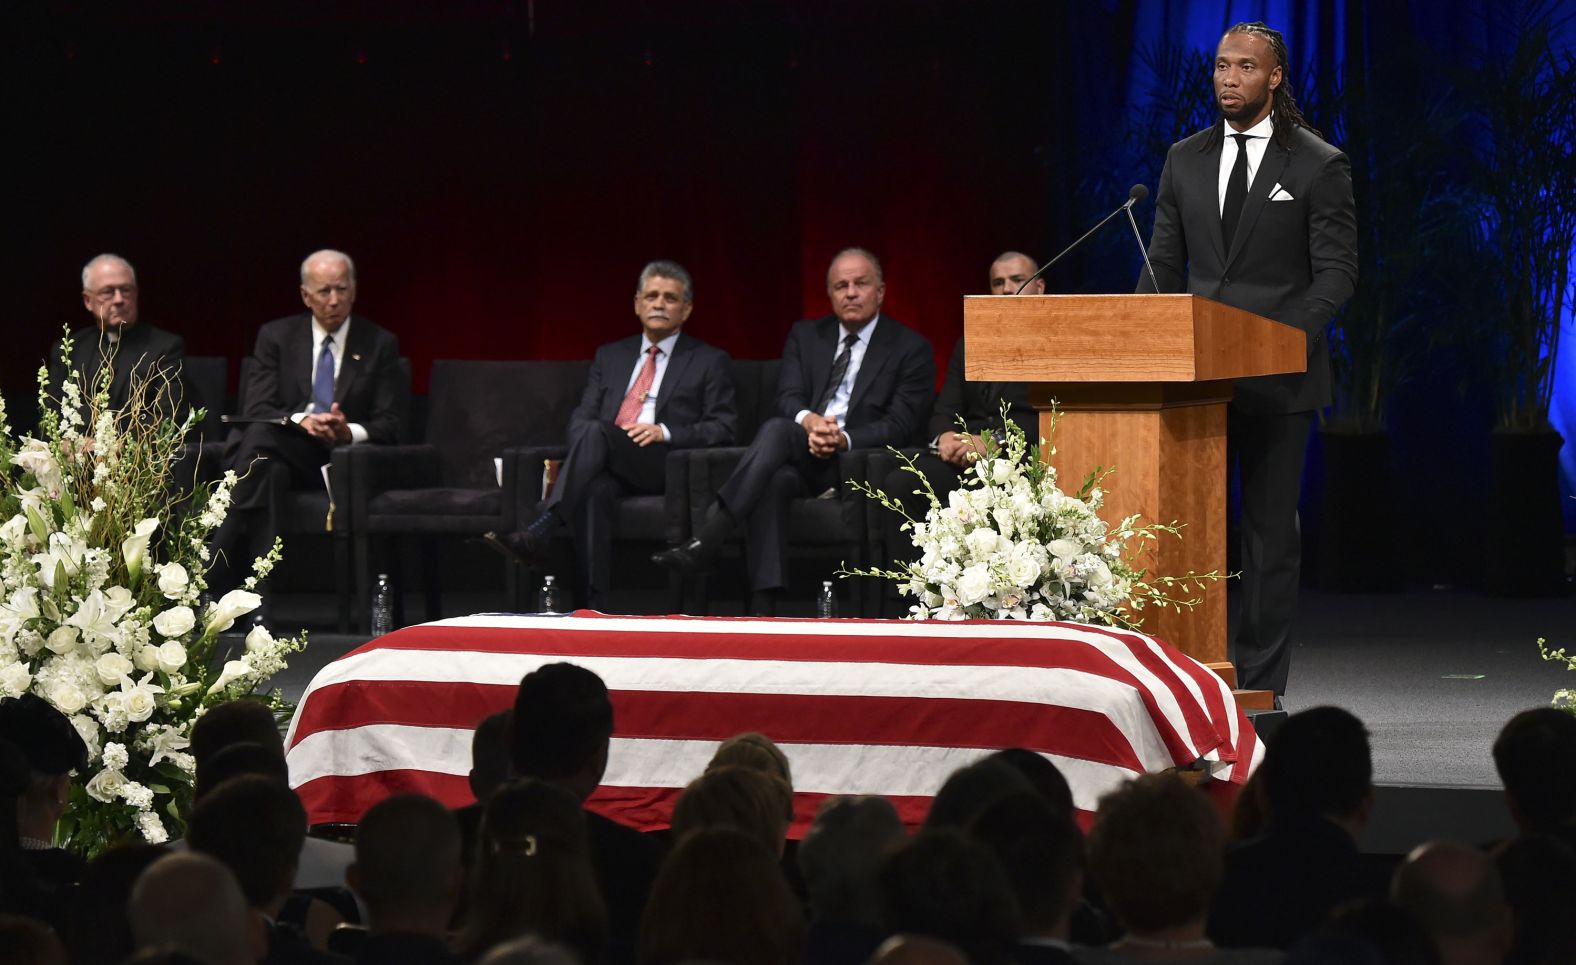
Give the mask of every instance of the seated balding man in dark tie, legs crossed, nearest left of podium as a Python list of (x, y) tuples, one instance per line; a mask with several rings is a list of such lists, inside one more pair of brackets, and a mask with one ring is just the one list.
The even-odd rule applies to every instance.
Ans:
[(749, 520), (755, 609), (772, 612), (786, 583), (788, 501), (838, 484), (837, 454), (854, 446), (911, 445), (935, 394), (936, 360), (917, 331), (881, 315), (881, 263), (840, 251), (826, 273), (832, 314), (799, 322), (783, 345), (775, 418), (761, 424), (693, 539), (652, 557), (676, 569), (709, 566)]

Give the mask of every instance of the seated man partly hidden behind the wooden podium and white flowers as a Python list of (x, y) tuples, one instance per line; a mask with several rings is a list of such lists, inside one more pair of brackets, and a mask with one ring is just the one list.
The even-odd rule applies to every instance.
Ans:
[[(1026, 254), (1004, 251), (990, 263), (991, 295), (1015, 295), (1018, 285), (1028, 281), (1039, 270)], [(1023, 295), (1043, 295), (1045, 279), (1035, 278)], [(941, 383), (941, 394), (936, 407), (930, 413), (930, 453), (922, 453), (914, 460), (914, 468), (922, 471), (930, 486), (941, 497), (963, 484), (963, 473), (982, 451), (980, 432), (993, 432), (1001, 440), (1001, 404), (1012, 405), (1012, 421), (1015, 421), (1029, 440), (1039, 438), (1039, 419), (1029, 408), (1029, 386), (1023, 382), (968, 382), (963, 377), (963, 337), (958, 336), (952, 347), (952, 361), (947, 363), (947, 380)], [(958, 432), (958, 416), (963, 416), (965, 430)], [(913, 519), (925, 519), (930, 511), (930, 498), (920, 492), (919, 479), (906, 468), (895, 468), (881, 482), (881, 490), (903, 503)], [(903, 517), (897, 512), (881, 509), (884, 523), (884, 542), (892, 555), (890, 566), (917, 560), (919, 552), (914, 541), (903, 531)], [(897, 585), (887, 587), (884, 601), (887, 617), (900, 617), (905, 610), (903, 598), (897, 593)]]

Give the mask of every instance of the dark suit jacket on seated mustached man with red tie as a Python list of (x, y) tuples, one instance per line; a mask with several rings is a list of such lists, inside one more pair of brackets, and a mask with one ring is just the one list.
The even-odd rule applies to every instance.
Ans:
[[(580, 405), (569, 416), (571, 426), (611, 423), (618, 416), (629, 374), (635, 371), (645, 342), (646, 336), (637, 334), (596, 350)], [(656, 419), (668, 427), (668, 445), (675, 449), (733, 443), (736, 413), (728, 364), (727, 352), (697, 337), (681, 334), (673, 342), (673, 356), (657, 393)]]

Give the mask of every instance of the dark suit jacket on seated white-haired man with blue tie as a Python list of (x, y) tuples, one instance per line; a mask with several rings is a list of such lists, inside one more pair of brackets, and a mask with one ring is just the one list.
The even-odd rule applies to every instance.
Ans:
[[(241, 397), (246, 418), (274, 419), (304, 412), (312, 402), (312, 315), (263, 325)], [(410, 385), (399, 366), (399, 339), (370, 319), (351, 315), (350, 342), (334, 380), (334, 402), (367, 442), (396, 443), (405, 432)]]

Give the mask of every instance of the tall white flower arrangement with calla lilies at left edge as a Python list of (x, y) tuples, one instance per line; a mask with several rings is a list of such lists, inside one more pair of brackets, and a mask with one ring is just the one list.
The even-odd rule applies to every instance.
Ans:
[[(258, 628), (238, 659), (214, 667), (219, 634), (262, 604), (254, 590), (281, 546), (241, 590), (205, 604), (208, 538), (236, 476), (177, 494), (173, 470), (202, 412), (177, 419), (158, 380), (134, 385), (115, 412), (107, 378), (109, 366), (85, 391), (71, 372), (57, 401), (41, 369), (39, 438), (14, 438), (0, 397), (0, 700), (38, 694), (82, 736), (88, 768), (57, 829), (82, 855), (180, 834), (192, 724), (254, 697), (306, 646), (304, 635)], [(257, 697), (285, 710), (277, 691)]]

